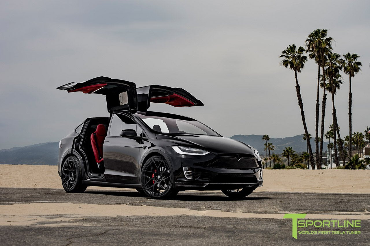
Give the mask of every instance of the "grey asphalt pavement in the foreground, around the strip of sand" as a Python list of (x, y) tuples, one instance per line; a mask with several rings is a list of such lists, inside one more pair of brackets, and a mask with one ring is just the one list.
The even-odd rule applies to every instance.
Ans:
[[(175, 198), (157, 200), (143, 197), (135, 190), (87, 189), (82, 194), (71, 194), (62, 189), (0, 188), (0, 206), (3, 209), (14, 204), (70, 202), (146, 205), (163, 210), (219, 210), (235, 214), (335, 213), (349, 218), (354, 214), (365, 214), (367, 217), (364, 218), (369, 218), (370, 214), (369, 194), (253, 192), (244, 199), (232, 200), (221, 192), (191, 191), (180, 192)], [(53, 215), (43, 216), (46, 220), (31, 225), (2, 223), (0, 245), (369, 245), (370, 242), (369, 219), (361, 220), (360, 235), (299, 235), (294, 239), (291, 219), (91, 214), (71, 218), (68, 224), (61, 221), (60, 225), (55, 225), (55, 217), (64, 215), (55, 211)], [(48, 219), (53, 220), (52, 225)]]

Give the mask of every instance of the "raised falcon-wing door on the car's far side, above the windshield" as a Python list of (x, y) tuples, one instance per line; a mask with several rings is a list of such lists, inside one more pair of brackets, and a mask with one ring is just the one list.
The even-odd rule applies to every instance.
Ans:
[(146, 112), (150, 103), (166, 103), (174, 107), (204, 106), (201, 100), (181, 88), (163, 85), (149, 85), (136, 89), (138, 111)]

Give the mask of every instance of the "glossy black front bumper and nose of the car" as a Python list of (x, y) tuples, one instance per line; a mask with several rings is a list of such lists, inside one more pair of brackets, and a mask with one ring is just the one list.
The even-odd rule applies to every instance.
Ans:
[[(174, 185), (180, 190), (223, 190), (262, 186), (262, 163), (255, 157), (233, 158), (209, 153), (191, 156), (171, 153)], [(192, 179), (183, 167), (190, 168)]]

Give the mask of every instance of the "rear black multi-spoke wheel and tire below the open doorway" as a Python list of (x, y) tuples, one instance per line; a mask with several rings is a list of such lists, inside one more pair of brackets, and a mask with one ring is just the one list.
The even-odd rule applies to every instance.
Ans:
[(61, 168), (62, 186), (65, 191), (70, 193), (82, 193), (87, 185), (82, 184), (82, 170), (78, 159), (70, 156), (63, 162)]

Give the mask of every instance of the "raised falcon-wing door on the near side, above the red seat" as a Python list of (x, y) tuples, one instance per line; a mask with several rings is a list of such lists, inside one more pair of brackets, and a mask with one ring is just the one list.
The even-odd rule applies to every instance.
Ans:
[(137, 110), (136, 85), (133, 82), (111, 79), (108, 77), (97, 77), (84, 82), (72, 82), (59, 86), (59, 90), (67, 92), (83, 92), (104, 95), (107, 99), (108, 112), (123, 109), (130, 112)]

